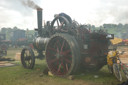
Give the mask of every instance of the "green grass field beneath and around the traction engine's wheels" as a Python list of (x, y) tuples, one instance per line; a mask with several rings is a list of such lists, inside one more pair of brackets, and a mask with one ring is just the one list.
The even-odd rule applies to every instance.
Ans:
[[(20, 48), (10, 48), (6, 57), (13, 59), (20, 51)], [(74, 80), (69, 80), (56, 76), (42, 76), (47, 66), (45, 60), (36, 60), (33, 70), (24, 69), (20, 61), (13, 63), (16, 63), (16, 66), (0, 68), (0, 85), (117, 85), (121, 83), (108, 72), (107, 66), (98, 72), (74, 75)]]

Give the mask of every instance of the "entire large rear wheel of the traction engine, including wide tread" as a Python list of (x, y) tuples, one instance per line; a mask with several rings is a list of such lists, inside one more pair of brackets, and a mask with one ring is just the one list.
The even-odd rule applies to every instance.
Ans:
[(49, 70), (57, 76), (73, 74), (80, 64), (80, 52), (75, 38), (68, 34), (55, 34), (46, 46)]

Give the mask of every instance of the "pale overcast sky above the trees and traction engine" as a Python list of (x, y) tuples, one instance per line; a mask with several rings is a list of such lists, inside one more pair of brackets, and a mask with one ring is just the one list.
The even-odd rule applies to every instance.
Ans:
[[(25, 0), (0, 0), (0, 28), (37, 27), (36, 10), (22, 4)], [(64, 12), (81, 24), (128, 24), (128, 0), (32, 0), (43, 8), (43, 20)]]

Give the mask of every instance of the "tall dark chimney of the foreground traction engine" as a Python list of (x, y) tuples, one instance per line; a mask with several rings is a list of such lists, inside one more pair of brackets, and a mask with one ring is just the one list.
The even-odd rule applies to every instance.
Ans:
[(42, 9), (37, 8), (37, 24), (38, 24), (38, 34), (42, 35)]

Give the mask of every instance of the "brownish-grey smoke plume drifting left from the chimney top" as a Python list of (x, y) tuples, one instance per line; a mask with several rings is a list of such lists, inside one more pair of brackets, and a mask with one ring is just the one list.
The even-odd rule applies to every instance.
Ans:
[(21, 0), (23, 5), (28, 6), (33, 9), (42, 9), (40, 6), (38, 6), (36, 3), (34, 3), (31, 0)]

